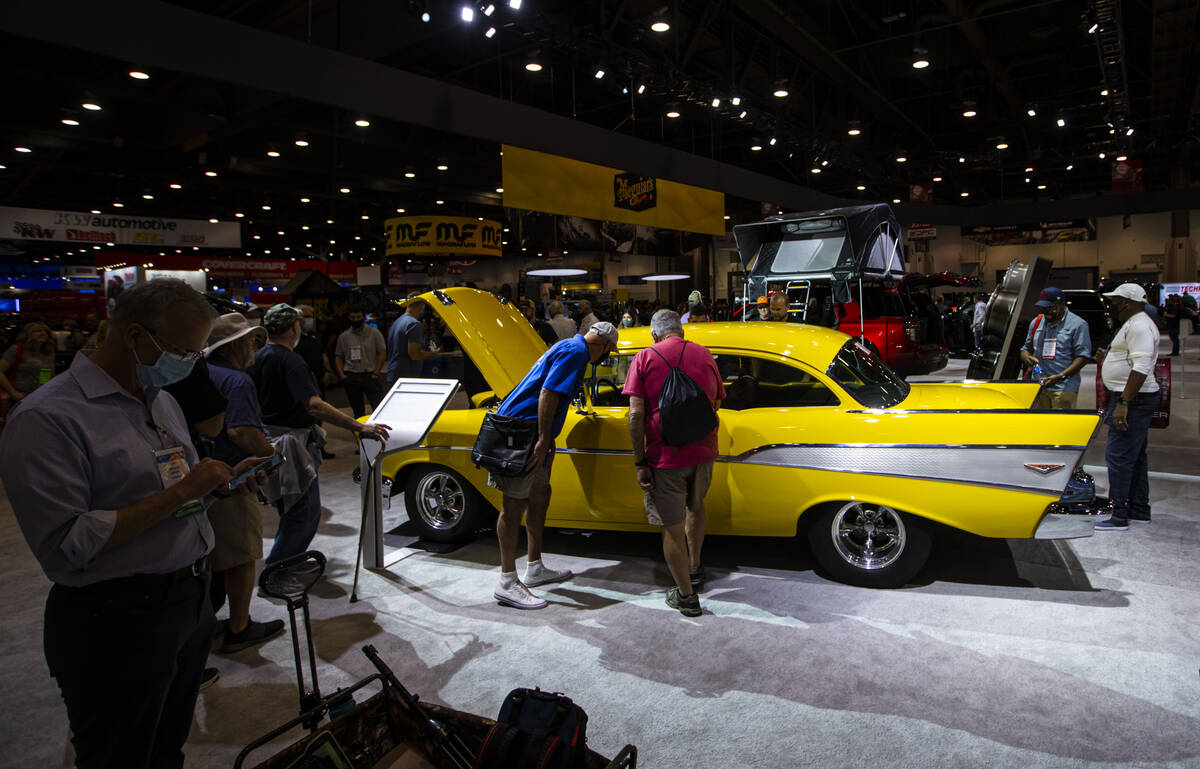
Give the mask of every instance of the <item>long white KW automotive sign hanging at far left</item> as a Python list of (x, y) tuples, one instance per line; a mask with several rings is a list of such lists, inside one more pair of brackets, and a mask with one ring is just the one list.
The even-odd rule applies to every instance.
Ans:
[(236, 222), (169, 220), (133, 214), (80, 214), (0, 206), (0, 238), (120, 246), (241, 248)]

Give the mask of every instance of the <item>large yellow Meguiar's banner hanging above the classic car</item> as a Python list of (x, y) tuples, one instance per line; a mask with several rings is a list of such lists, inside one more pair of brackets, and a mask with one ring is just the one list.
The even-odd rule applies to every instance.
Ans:
[(504, 205), (707, 235), (725, 234), (725, 196), (504, 145)]

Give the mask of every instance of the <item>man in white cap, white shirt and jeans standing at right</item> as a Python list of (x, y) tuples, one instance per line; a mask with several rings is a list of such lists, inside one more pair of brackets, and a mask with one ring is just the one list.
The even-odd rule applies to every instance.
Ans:
[(1109, 467), (1109, 500), (1112, 516), (1096, 524), (1098, 531), (1124, 531), (1130, 521), (1150, 523), (1150, 477), (1146, 440), (1150, 420), (1158, 405), (1158, 326), (1146, 314), (1146, 292), (1136, 283), (1122, 283), (1105, 294), (1121, 324), (1100, 366), (1109, 393), (1104, 421), (1109, 439), (1104, 458)]

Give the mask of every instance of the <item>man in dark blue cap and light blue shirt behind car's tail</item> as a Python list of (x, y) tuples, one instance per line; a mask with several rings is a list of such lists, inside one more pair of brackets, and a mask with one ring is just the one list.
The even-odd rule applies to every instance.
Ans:
[(1073, 409), (1079, 398), (1079, 372), (1092, 355), (1087, 323), (1067, 310), (1062, 289), (1048, 286), (1034, 302), (1042, 314), (1025, 335), (1021, 361), (1042, 367), (1042, 390), (1036, 409)]

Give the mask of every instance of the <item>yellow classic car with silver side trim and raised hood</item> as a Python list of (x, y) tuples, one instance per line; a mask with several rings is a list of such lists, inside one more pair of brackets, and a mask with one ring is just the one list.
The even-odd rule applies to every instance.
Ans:
[[(469, 288), (424, 295), (490, 391), (443, 411), (424, 443), (389, 455), (424, 537), (457, 541), (500, 504), (470, 450), (498, 403), (546, 350), (510, 304)], [(866, 587), (899, 587), (924, 565), (931, 524), (988, 537), (1087, 536), (1086, 516), (1049, 511), (1094, 433), (1094, 411), (1031, 410), (1038, 385), (908, 384), (845, 334), (788, 323), (689, 324), (725, 380), (720, 456), (706, 498), (708, 533), (793, 536), (806, 530), (823, 570)], [(646, 522), (631, 459), (628, 398), (646, 326), (622, 329), (618, 352), (589, 367), (556, 444), (546, 524), (658, 530)]]

